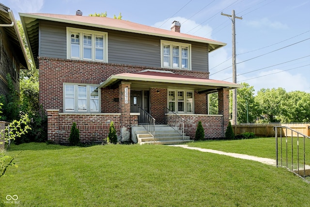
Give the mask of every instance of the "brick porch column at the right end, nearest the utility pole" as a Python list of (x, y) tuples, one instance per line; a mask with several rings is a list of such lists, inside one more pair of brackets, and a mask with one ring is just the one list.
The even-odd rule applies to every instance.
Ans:
[(222, 137), (229, 123), (229, 89), (218, 90), (218, 114), (223, 115)]

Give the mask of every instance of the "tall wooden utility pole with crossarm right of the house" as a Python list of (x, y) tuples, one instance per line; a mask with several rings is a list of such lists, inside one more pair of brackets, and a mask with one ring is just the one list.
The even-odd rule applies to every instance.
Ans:
[[(232, 17), (232, 29), (233, 29), (233, 82), (237, 83), (237, 67), (236, 67), (236, 27), (235, 27), (235, 18), (242, 19), (234, 15), (234, 10), (232, 15), (226, 15), (221, 13), (223, 16)], [(233, 89), (233, 125), (234, 132), (237, 132), (237, 89)]]

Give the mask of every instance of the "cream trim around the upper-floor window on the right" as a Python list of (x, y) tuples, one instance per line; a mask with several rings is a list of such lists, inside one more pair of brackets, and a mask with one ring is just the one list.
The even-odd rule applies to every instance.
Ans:
[[(170, 67), (164, 66), (164, 45), (170, 45)], [(173, 46), (179, 46), (179, 67), (173, 67), (173, 55), (172, 48)], [(182, 47), (188, 48), (188, 68), (182, 68)], [(171, 68), (171, 69), (182, 69), (182, 70), (191, 70), (191, 44), (189, 43), (180, 43), (180, 42), (172, 42), (167, 40), (160, 40), (160, 59), (161, 59), (161, 67)]]

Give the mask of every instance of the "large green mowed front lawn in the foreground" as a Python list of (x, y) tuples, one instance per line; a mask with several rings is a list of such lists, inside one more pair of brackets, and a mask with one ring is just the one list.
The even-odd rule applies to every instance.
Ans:
[(5, 204), (7, 195), (17, 195), (19, 206), (26, 207), (310, 206), (308, 183), (284, 168), (250, 160), (138, 144), (28, 143), (12, 145), (7, 154), (20, 151), (18, 168), (0, 178), (0, 206), (14, 206)]

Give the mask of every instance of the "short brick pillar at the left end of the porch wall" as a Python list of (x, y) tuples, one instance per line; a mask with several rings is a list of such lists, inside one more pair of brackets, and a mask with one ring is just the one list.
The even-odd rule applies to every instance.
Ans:
[(47, 140), (59, 143), (59, 110), (47, 110)]

